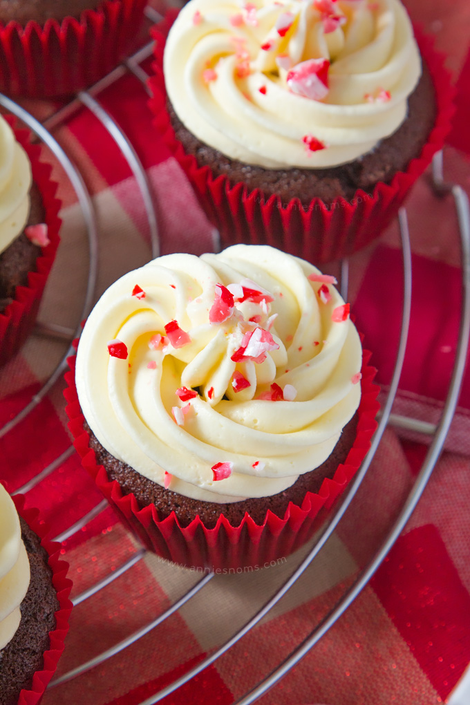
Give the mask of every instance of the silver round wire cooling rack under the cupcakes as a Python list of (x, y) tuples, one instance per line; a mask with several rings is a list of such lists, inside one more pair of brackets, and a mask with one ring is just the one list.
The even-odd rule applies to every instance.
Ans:
[[(147, 8), (147, 17), (151, 21), (158, 21), (161, 19), (158, 13), (153, 9)], [(71, 100), (66, 106), (63, 106), (54, 115), (49, 116), (47, 120), (43, 123), (37, 121), (31, 114), (29, 114), (25, 109), (18, 106), (16, 103), (11, 101), (5, 96), (0, 95), (0, 105), (4, 109), (15, 114), (24, 121), (28, 127), (37, 135), (37, 138), (44, 142), (52, 152), (54, 152), (56, 158), (60, 162), (66, 176), (70, 180), (76, 195), (78, 197), (78, 202), (80, 204), (80, 209), (82, 212), (82, 217), (87, 228), (87, 240), (89, 248), (89, 272), (87, 287), (85, 291), (84, 301), (82, 305), (82, 311), (80, 317), (77, 321), (75, 330), (64, 329), (62, 326), (58, 326), (54, 323), (39, 324), (39, 329), (43, 334), (49, 336), (57, 336), (58, 338), (68, 338), (70, 343), (75, 336), (78, 336), (80, 331), (80, 321), (84, 319), (89, 310), (92, 308), (94, 303), (94, 292), (97, 283), (97, 274), (99, 270), (98, 263), (98, 243), (99, 243), (99, 228), (97, 226), (97, 217), (94, 212), (94, 206), (92, 199), (89, 195), (87, 187), (85, 185), (85, 179), (80, 173), (78, 168), (73, 164), (68, 154), (64, 149), (58, 145), (58, 142), (52, 136), (54, 129), (60, 127), (70, 116), (75, 114), (76, 111), (85, 106), (87, 109), (92, 111), (94, 116), (104, 125), (104, 128), (108, 130), (113, 140), (115, 140), (116, 145), (124, 155), (125, 159), (128, 161), (130, 169), (135, 177), (135, 180), (140, 188), (140, 193), (142, 197), (142, 207), (145, 210), (147, 221), (149, 225), (149, 233), (151, 238), (151, 253), (153, 257), (159, 255), (159, 233), (157, 228), (156, 212), (154, 208), (154, 199), (151, 194), (151, 186), (147, 179), (147, 175), (142, 168), (139, 158), (132, 147), (130, 140), (126, 137), (123, 130), (118, 126), (116, 121), (105, 111), (103, 106), (99, 102), (99, 94), (106, 88), (109, 87), (113, 82), (118, 80), (125, 73), (132, 73), (140, 80), (144, 85), (148, 76), (141, 66), (142, 61), (150, 56), (152, 51), (152, 44), (146, 44), (142, 49), (137, 51), (133, 56), (130, 56), (122, 65), (118, 66), (114, 71), (107, 75), (104, 79), (99, 81), (96, 85), (91, 87), (85, 92), (80, 92), (77, 96)], [(462, 383), (462, 376), (464, 372), (464, 364), (466, 360), (466, 353), (469, 342), (470, 333), (470, 217), (469, 217), (469, 205), (466, 199), (466, 195), (462, 188), (458, 185), (450, 185), (445, 183), (443, 178), (443, 155), (438, 154), (433, 162), (433, 180), (431, 188), (435, 191), (436, 195), (442, 195), (444, 193), (450, 193), (454, 200), (455, 208), (457, 209), (457, 220), (459, 223), (459, 238), (461, 242), (462, 250), (462, 315), (460, 319), (459, 326), (459, 338), (457, 343), (457, 350), (454, 359), (454, 368), (452, 372), (452, 379), (450, 381), (447, 398), (443, 406), (440, 421), (437, 425), (423, 423), (419, 419), (413, 419), (410, 417), (404, 417), (392, 414), (392, 405), (395, 400), (395, 395), (397, 393), (398, 383), (400, 380), (400, 374), (402, 371), (402, 366), (405, 358), (405, 349), (407, 345), (407, 336), (409, 329), (409, 319), (410, 319), (410, 309), (412, 303), (412, 257), (409, 244), (409, 232), (407, 224), (407, 213), (404, 209), (400, 211), (399, 214), (399, 225), (400, 225), (400, 238), (402, 245), (402, 262), (403, 262), (403, 309), (402, 309), (402, 326), (400, 331), (400, 338), (397, 341), (397, 351), (395, 367), (392, 374), (392, 380), (390, 382), (390, 387), (388, 388), (388, 395), (383, 404), (381, 410), (381, 417), (378, 424), (378, 429), (373, 436), (371, 449), (366, 455), (364, 462), (361, 465), (354, 482), (350, 485), (347, 493), (342, 498), (340, 505), (337, 506), (335, 513), (330, 516), (328, 522), (323, 526), (321, 532), (316, 535), (316, 537), (310, 542), (308, 546), (308, 553), (306, 551), (300, 551), (297, 559), (295, 557), (290, 561), (290, 572), (287, 574), (287, 579), (280, 586), (279, 589), (273, 592), (269, 598), (261, 604), (256, 613), (251, 615), (245, 624), (235, 630), (228, 639), (222, 640), (223, 643), (218, 645), (214, 651), (211, 651), (206, 658), (200, 661), (197, 666), (190, 668), (184, 675), (180, 678), (176, 678), (171, 684), (167, 685), (159, 692), (154, 693), (151, 697), (148, 697), (140, 705), (153, 705), (159, 702), (163, 697), (171, 694), (176, 689), (183, 686), (186, 682), (190, 681), (194, 676), (201, 673), (205, 668), (214, 663), (218, 658), (220, 658), (226, 651), (228, 651), (232, 646), (234, 646), (242, 637), (244, 637), (249, 630), (257, 625), (266, 615), (273, 610), (273, 608), (287, 595), (287, 593), (295, 586), (296, 582), (300, 580), (301, 576), (308, 571), (309, 567), (312, 565), (314, 560), (319, 557), (321, 552), (328, 551), (328, 541), (332, 537), (338, 524), (342, 521), (347, 509), (350, 507), (351, 503), (354, 501), (354, 497), (357, 493), (361, 491), (361, 484), (366, 476), (371, 465), (371, 460), (376, 454), (379, 444), (383, 438), (383, 433), (388, 426), (388, 424), (394, 424), (395, 426), (410, 429), (412, 431), (418, 431), (420, 433), (428, 434), (431, 438), (431, 443), (428, 448), (428, 453), (426, 458), (423, 460), (421, 465), (421, 471), (416, 477), (416, 480), (409, 491), (409, 495), (402, 504), (402, 507), (397, 512), (397, 517), (392, 525), (388, 529), (388, 534), (385, 539), (379, 541), (376, 547), (375, 553), (371, 556), (367, 565), (360, 570), (354, 577), (354, 581), (351, 582), (347, 588), (342, 593), (338, 603), (333, 605), (328, 613), (323, 615), (323, 618), (319, 620), (314, 629), (305, 637), (301, 642), (299, 642), (296, 648), (285, 654), (285, 658), (282, 663), (271, 671), (271, 673), (260, 674), (261, 678), (259, 682), (252, 687), (252, 689), (247, 692), (241, 699), (237, 701), (237, 705), (249, 705), (257, 701), (264, 693), (268, 691), (273, 685), (276, 684), (283, 676), (292, 669), (299, 660), (307, 654), (309, 649), (311, 649), (323, 635), (328, 632), (330, 627), (332, 627), (335, 622), (340, 618), (340, 616), (347, 610), (352, 601), (359, 595), (364, 586), (369, 582), (374, 572), (377, 570), (378, 566), (381, 564), (382, 560), (385, 558), (388, 551), (394, 544), (397, 537), (402, 532), (404, 525), (407, 523), (410, 515), (412, 514), (416, 503), (419, 501), (421, 494), (428, 482), (431, 472), (435, 467), (435, 463), (438, 460), (440, 452), (443, 448), (445, 442), (445, 437), (450, 427), (452, 417), (454, 415), (454, 410), (457, 405), (457, 398), (459, 395), (459, 388)], [(340, 266), (340, 288), (343, 298), (347, 300), (347, 290), (348, 290), (348, 279), (349, 279), (349, 264), (347, 260), (343, 261)], [(13, 428), (21, 424), (23, 420), (32, 412), (32, 410), (37, 407), (39, 402), (49, 395), (54, 389), (56, 384), (61, 380), (63, 372), (66, 369), (66, 357), (71, 352), (69, 348), (66, 355), (59, 362), (56, 369), (50, 374), (49, 379), (45, 382), (42, 388), (33, 396), (29, 403), (25, 405), (23, 410), (21, 410), (15, 417), (13, 417), (3, 428), (0, 429), (0, 438), (6, 436), (12, 431)], [(52, 462), (47, 465), (47, 467), (42, 468), (40, 472), (36, 474), (35, 477), (30, 479), (29, 482), (18, 488), (17, 492), (26, 494), (32, 490), (37, 484), (42, 482), (46, 477), (48, 477), (54, 470), (61, 467), (63, 463), (75, 452), (73, 446), (67, 448), (61, 455), (55, 458)], [(66, 541), (76, 532), (79, 532), (82, 527), (85, 527), (88, 522), (90, 522), (94, 517), (97, 517), (101, 512), (103, 512), (108, 507), (106, 501), (101, 501), (92, 508), (88, 513), (75, 522), (72, 526), (68, 527), (65, 531), (61, 532), (56, 537), (58, 541)], [(102, 541), (106, 541), (106, 537), (101, 538)], [(147, 551), (144, 548), (136, 549), (135, 553), (132, 554), (128, 560), (125, 560), (118, 568), (113, 566), (112, 570), (110, 567), (110, 572), (103, 577), (101, 580), (96, 582), (81, 594), (74, 597), (73, 603), (75, 606), (86, 601), (91, 596), (97, 594), (101, 589), (111, 584), (113, 581), (118, 580), (125, 572), (132, 570), (132, 568), (147, 555)], [(67, 556), (65, 548), (65, 556)], [(173, 569), (171, 565), (165, 566), (165, 570), (177, 570)], [(112, 656), (120, 653), (123, 649), (126, 649), (131, 644), (135, 643), (137, 639), (142, 638), (144, 635), (148, 634), (151, 630), (154, 630), (167, 620), (175, 612), (180, 611), (183, 606), (196, 596), (199, 591), (203, 591), (206, 585), (213, 581), (218, 580), (218, 576), (213, 573), (207, 573), (202, 578), (197, 580), (189, 590), (175, 599), (171, 606), (156, 616), (149, 623), (145, 624), (140, 629), (131, 633), (123, 639), (122, 641), (114, 644), (111, 648), (106, 649), (103, 653), (95, 656), (92, 659), (86, 660), (84, 656), (84, 661), (73, 670), (68, 673), (55, 678), (49, 687), (54, 688), (58, 685), (70, 682), (74, 678), (87, 673), (87, 671), (97, 666), (106, 666), (106, 662)], [(256, 584), (256, 577), (253, 578)], [(204, 593), (202, 593), (204, 594)], [(262, 596), (261, 596), (262, 602)], [(132, 663), (128, 665), (128, 668), (132, 668)], [(86, 687), (86, 685), (84, 685)], [(80, 705), (78, 703), (77, 705)]]

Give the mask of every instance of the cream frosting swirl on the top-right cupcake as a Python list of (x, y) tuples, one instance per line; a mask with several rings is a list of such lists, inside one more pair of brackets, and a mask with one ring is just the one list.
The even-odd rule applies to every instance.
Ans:
[[(287, 85), (309, 59), (330, 63), (326, 94), (313, 78), (319, 99)], [(164, 74), (202, 142), (265, 168), (319, 168), (357, 159), (399, 128), (421, 59), (398, 0), (191, 0), (168, 35)], [(312, 151), (311, 137), (324, 148)]]

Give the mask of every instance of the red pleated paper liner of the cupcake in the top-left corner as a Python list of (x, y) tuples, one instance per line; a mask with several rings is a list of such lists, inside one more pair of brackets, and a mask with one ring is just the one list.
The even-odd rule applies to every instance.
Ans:
[(0, 90), (32, 98), (66, 95), (97, 82), (135, 40), (147, 0), (104, 0), (80, 20), (0, 25)]

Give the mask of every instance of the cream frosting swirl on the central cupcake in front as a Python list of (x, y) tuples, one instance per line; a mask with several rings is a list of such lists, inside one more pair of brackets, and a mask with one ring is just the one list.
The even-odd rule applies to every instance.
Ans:
[[(168, 472), (170, 489), (214, 502), (276, 494), (321, 465), (359, 405), (361, 344), (349, 317), (334, 320), (345, 310), (338, 291), (309, 275), (319, 271), (272, 247), (235, 245), (160, 257), (116, 281), (89, 315), (76, 365), (82, 411), (104, 448), (162, 486)], [(234, 306), (211, 323), (220, 284)], [(135, 286), (142, 293), (132, 295)], [(170, 321), (190, 341), (156, 343)], [(268, 341), (261, 357), (256, 336)], [(127, 357), (111, 356), (109, 341)], [(235, 372), (245, 379), (237, 392)], [(273, 384), (284, 399), (297, 396), (259, 399)], [(199, 390), (187, 413), (183, 386)], [(233, 464), (230, 477), (214, 479), (219, 462)]]

